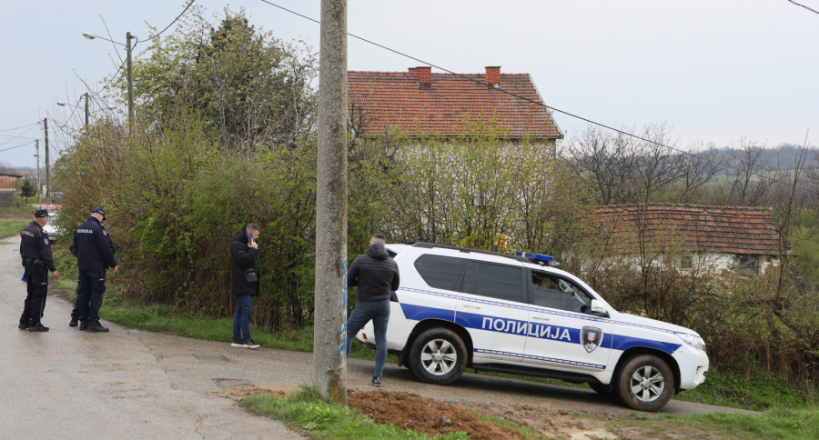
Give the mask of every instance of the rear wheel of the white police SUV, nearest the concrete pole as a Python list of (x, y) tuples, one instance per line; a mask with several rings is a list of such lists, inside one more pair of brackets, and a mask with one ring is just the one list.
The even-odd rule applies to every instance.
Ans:
[(449, 385), (466, 368), (466, 345), (455, 332), (431, 328), (420, 334), (410, 349), (410, 370), (421, 382)]

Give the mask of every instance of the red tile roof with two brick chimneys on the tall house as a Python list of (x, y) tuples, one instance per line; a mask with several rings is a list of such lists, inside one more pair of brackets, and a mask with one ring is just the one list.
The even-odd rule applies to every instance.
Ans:
[[(412, 138), (467, 134), (467, 123), (493, 121), (511, 143), (529, 138), (554, 149), (560, 127), (529, 74), (439, 74), (427, 66), (408, 72), (348, 72), (348, 102), (355, 136), (397, 131)], [(514, 95), (521, 95), (527, 101)], [(537, 103), (537, 104), (536, 104)]]

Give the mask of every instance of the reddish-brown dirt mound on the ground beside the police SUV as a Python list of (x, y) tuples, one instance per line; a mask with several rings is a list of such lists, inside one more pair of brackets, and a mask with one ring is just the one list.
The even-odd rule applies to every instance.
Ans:
[(526, 436), (510, 428), (481, 422), (458, 406), (414, 393), (348, 390), (347, 403), (380, 424), (399, 425), (427, 435), (466, 431), (476, 440), (526, 440)]

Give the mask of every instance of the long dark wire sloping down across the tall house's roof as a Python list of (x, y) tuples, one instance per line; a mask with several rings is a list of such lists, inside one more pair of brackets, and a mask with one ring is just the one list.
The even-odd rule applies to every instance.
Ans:
[[(791, 0), (788, 0), (788, 1), (791, 1)], [(269, 2), (268, 0), (261, 0), (261, 2), (263, 2), (263, 3), (267, 3), (268, 5), (271, 5), (271, 6), (278, 7), (279, 9), (281, 9), (281, 10), (283, 10), (283, 11), (287, 11), (287, 12), (288, 12), (288, 13), (290, 13), (290, 14), (293, 14), (293, 15), (298, 15), (298, 16), (300, 16), (300, 17), (302, 17), (302, 18), (305, 18), (305, 19), (307, 19), (307, 20), (309, 20), (309, 21), (311, 21), (311, 22), (318, 23), (319, 25), (321, 25), (321, 22), (320, 22), (319, 20), (316, 20), (315, 18), (310, 18), (310, 17), (308, 17), (307, 15), (301, 15), (301, 14), (298, 14), (298, 12), (291, 11), (291, 10), (289, 10), (289, 9), (288, 9), (288, 8), (286, 8), (286, 7), (282, 7), (282, 6), (276, 5), (276, 4), (274, 4), (274, 3)], [(794, 3), (794, 2), (791, 2), (791, 3)], [(797, 4), (797, 5), (798, 5), (798, 4)], [(800, 5), (800, 6), (801, 6), (801, 5)], [(810, 8), (808, 8), (808, 9), (810, 9)], [(373, 42), (373, 41), (370, 41), (370, 40), (368, 40), (367, 38), (361, 37), (361, 36), (359, 36), (359, 35), (353, 35), (353, 34), (350, 34), (350, 33), (347, 33), (347, 35), (349, 35), (349, 36), (351, 36), (351, 37), (353, 37), (353, 38), (356, 38), (356, 39), (358, 39), (358, 40), (360, 40), (360, 41), (363, 41), (363, 42), (365, 42), (365, 43), (368, 43), (369, 45), (375, 45), (375, 46), (377, 46), (377, 47), (380, 47), (381, 49), (384, 49), (384, 50), (387, 50), (387, 51), (389, 51), (389, 52), (392, 52), (393, 54), (396, 54), (396, 55), (401, 55), (401, 56), (404, 56), (404, 57), (406, 57), (406, 58), (410, 58), (411, 60), (418, 61), (419, 63), (422, 63), (422, 64), (424, 64), (424, 65), (430, 65), (430, 66), (435, 67), (435, 68), (437, 68), (437, 69), (439, 69), (439, 70), (442, 70), (442, 71), (444, 71), (444, 72), (446, 72), (446, 73), (448, 73), (448, 74), (451, 74), (451, 75), (456, 75), (456, 76), (460, 77), (461, 79), (465, 79), (465, 80), (470, 81), (470, 82), (472, 82), (472, 83), (475, 83), (475, 84), (477, 84), (477, 85), (481, 85), (481, 86), (484, 86), (484, 87), (488, 86), (488, 85), (486, 84), (486, 82), (481, 82), (481, 81), (479, 81), (479, 80), (477, 80), (477, 79), (470, 78), (469, 76), (466, 76), (466, 75), (461, 75), (461, 74), (458, 74), (458, 73), (452, 72), (452, 71), (451, 71), (451, 70), (449, 70), (449, 69), (446, 69), (446, 68), (440, 67), (439, 65), (434, 65), (434, 64), (429, 63), (429, 62), (427, 62), (427, 61), (424, 61), (424, 60), (422, 60), (422, 59), (420, 59), (420, 58), (416, 58), (416, 57), (414, 57), (414, 56), (404, 54), (404, 53), (402, 53), (402, 52), (399, 52), (398, 50), (395, 50), (395, 49), (389, 48), (389, 47), (387, 47), (387, 46), (385, 46), (385, 45), (379, 45), (378, 43), (375, 43), (375, 42)], [(566, 111), (561, 110), (561, 109), (556, 108), (556, 107), (552, 107), (552, 106), (550, 106), (550, 105), (545, 105), (545, 104), (543, 104), (543, 103), (541, 103), (541, 102), (535, 101), (534, 99), (530, 99), (530, 98), (528, 98), (528, 97), (526, 97), (526, 96), (521, 96), (521, 95), (514, 94), (514, 93), (510, 92), (509, 90), (504, 90), (503, 88), (494, 88), (494, 87), (492, 87), (492, 88), (491, 88), (491, 90), (493, 90), (493, 91), (495, 91), (495, 92), (501, 92), (501, 93), (504, 93), (504, 94), (506, 94), (506, 95), (511, 95), (511, 96), (514, 96), (514, 97), (519, 98), (519, 99), (521, 99), (521, 100), (523, 100), (523, 101), (530, 102), (530, 103), (532, 103), (532, 104), (534, 104), (534, 105), (541, 105), (542, 107), (546, 108), (547, 110), (551, 110), (551, 111), (554, 111), (554, 112), (561, 113), (561, 114), (563, 114), (563, 115), (571, 116), (571, 117), (573, 117), (573, 118), (580, 119), (581, 121), (587, 122), (587, 123), (589, 123), (589, 124), (591, 124), (591, 125), (597, 125), (597, 126), (600, 126), (600, 127), (602, 127), (602, 128), (606, 128), (606, 129), (608, 129), (608, 130), (612, 130), (612, 131), (613, 131), (613, 132), (615, 132), (615, 133), (619, 133), (619, 134), (621, 134), (621, 135), (627, 135), (627, 136), (630, 136), (630, 137), (633, 137), (633, 138), (636, 138), (636, 139), (642, 140), (643, 142), (647, 142), (647, 143), (652, 144), (652, 145), (662, 146), (663, 148), (668, 148), (669, 150), (675, 151), (675, 152), (680, 153), (680, 154), (683, 154), (683, 155), (689, 155), (689, 156), (696, 157), (696, 158), (698, 158), (698, 159), (704, 160), (704, 161), (706, 161), (706, 162), (710, 162), (710, 163), (712, 163), (712, 164), (716, 164), (716, 165), (725, 166), (726, 168), (732, 168), (732, 169), (737, 170), (737, 171), (743, 171), (742, 169), (740, 169), (740, 168), (738, 168), (738, 167), (736, 167), (736, 166), (728, 165), (727, 163), (723, 163), (722, 161), (713, 160), (713, 159), (710, 159), (710, 158), (708, 158), (708, 157), (704, 157), (704, 156), (702, 156), (702, 155), (695, 155), (695, 154), (693, 154), (693, 153), (691, 153), (691, 152), (688, 152), (688, 151), (685, 151), (685, 150), (682, 150), (682, 149), (679, 149), (679, 148), (674, 148), (674, 147), (669, 146), (669, 145), (664, 145), (664, 144), (661, 144), (661, 143), (659, 143), (659, 142), (652, 141), (652, 140), (650, 140), (650, 139), (646, 139), (646, 138), (644, 138), (644, 137), (642, 137), (642, 136), (639, 136), (639, 135), (634, 135), (634, 134), (632, 134), (632, 133), (628, 133), (628, 132), (622, 131), (622, 130), (617, 129), (617, 128), (614, 128), (614, 127), (612, 127), (612, 126), (610, 126), (610, 125), (604, 125), (604, 124), (601, 124), (601, 123), (598, 123), (598, 122), (594, 122), (594, 121), (592, 121), (591, 119), (588, 119), (588, 118), (582, 117), (582, 116), (580, 116), (580, 115), (574, 115), (574, 114), (572, 114), (572, 113), (566, 112)], [(778, 179), (774, 179), (773, 177), (769, 177), (769, 176), (767, 176), (767, 175), (759, 175), (759, 174), (756, 174), (756, 173), (747, 173), (747, 174), (748, 174), (748, 175), (754, 175), (754, 176), (756, 176), (756, 177), (761, 177), (761, 178), (766, 179), (766, 180), (768, 180), (768, 181), (770, 181), (770, 182), (774, 182), (774, 183), (778, 183), (778, 184), (782, 184), (782, 185), (794, 186), (794, 187), (796, 187), (796, 188), (803, 189), (804, 191), (808, 191), (808, 192), (812, 192), (812, 193), (819, 194), (819, 191), (816, 191), (816, 190), (814, 190), (814, 189), (805, 188), (804, 186), (800, 186), (800, 185), (789, 184), (789, 183), (787, 183), (787, 182), (784, 182), (784, 181), (781, 181), (781, 180), (778, 180)]]

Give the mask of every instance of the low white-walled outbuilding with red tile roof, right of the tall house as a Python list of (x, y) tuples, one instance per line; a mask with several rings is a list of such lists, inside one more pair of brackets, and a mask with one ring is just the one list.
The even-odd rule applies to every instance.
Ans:
[(761, 275), (794, 256), (761, 207), (603, 205), (593, 212), (599, 246), (612, 255), (673, 255), (681, 271)]

